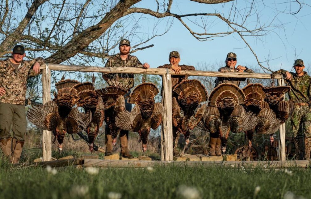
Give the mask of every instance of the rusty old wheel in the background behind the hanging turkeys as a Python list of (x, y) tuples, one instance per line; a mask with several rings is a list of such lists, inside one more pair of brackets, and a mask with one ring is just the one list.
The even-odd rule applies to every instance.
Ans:
[[(236, 147), (233, 151), (234, 151), (234, 154), (238, 154), (238, 160), (256, 161), (256, 160), (259, 160), (261, 158), (260, 151), (256, 146), (252, 146), (250, 151), (249, 151), (248, 145)], [(248, 157), (249, 157), (249, 159), (248, 159)]]

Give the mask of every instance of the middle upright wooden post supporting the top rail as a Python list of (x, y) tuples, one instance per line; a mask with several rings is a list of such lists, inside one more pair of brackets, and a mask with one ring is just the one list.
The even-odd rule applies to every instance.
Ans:
[(161, 128), (161, 160), (173, 161), (172, 75), (162, 75), (164, 117)]

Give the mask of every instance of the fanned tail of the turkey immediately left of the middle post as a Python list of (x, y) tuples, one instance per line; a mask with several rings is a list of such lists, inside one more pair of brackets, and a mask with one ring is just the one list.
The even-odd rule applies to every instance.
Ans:
[(128, 103), (136, 104), (137, 102), (154, 99), (159, 93), (159, 89), (153, 83), (142, 83), (134, 88), (128, 98)]

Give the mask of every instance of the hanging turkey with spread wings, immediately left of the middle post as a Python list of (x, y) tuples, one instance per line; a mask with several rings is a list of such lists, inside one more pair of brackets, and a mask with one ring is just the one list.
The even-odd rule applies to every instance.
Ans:
[(142, 141), (142, 150), (147, 150), (150, 129), (160, 126), (164, 115), (164, 107), (161, 103), (155, 103), (154, 97), (159, 93), (153, 83), (142, 83), (134, 88), (128, 102), (135, 104), (131, 112), (125, 110), (124, 97), (120, 96), (115, 104), (116, 126), (121, 129), (138, 132)]

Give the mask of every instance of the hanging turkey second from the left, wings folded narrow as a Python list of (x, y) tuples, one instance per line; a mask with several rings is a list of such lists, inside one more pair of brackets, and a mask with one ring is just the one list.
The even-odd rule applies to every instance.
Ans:
[(77, 106), (83, 107), (85, 111), (91, 111), (92, 113), (92, 120), (86, 129), (91, 153), (93, 152), (93, 143), (98, 134), (99, 128), (104, 122), (103, 100), (101, 97), (98, 97), (94, 83), (95, 77), (93, 75), (92, 83), (84, 82), (72, 87), (72, 89), (77, 92)]

